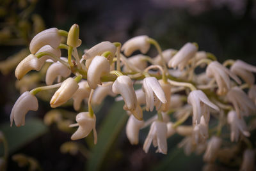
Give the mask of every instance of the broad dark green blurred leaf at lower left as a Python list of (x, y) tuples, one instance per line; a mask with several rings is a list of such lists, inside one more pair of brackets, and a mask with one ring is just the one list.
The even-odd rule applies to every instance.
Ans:
[[(43, 135), (48, 129), (42, 120), (31, 118), (26, 121), (25, 126), (17, 128), (15, 125), (10, 127), (10, 122), (1, 124), (0, 130), (4, 133), (4, 137), (8, 142), (8, 150), (10, 153), (16, 151), (23, 145), (35, 140), (35, 138)], [(3, 156), (3, 144), (0, 144), (0, 156)]]

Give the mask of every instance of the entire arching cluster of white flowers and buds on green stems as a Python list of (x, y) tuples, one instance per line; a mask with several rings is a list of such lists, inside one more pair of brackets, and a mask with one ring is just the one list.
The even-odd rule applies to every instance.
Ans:
[[(61, 41), (62, 37), (67, 41)], [(16, 126), (23, 126), (27, 112), (38, 110), (35, 96), (38, 92), (59, 87), (51, 98), (52, 108), (72, 99), (74, 110), (79, 111), (83, 100), (88, 103), (88, 111), (77, 114), (76, 123), (70, 124), (70, 127), (78, 126), (71, 139), (87, 137), (93, 131), (97, 143), (97, 114), (93, 108), (106, 96), (116, 96), (116, 101), (124, 100), (123, 108), (129, 115), (126, 134), (132, 145), (140, 143), (140, 130), (150, 126), (143, 144), (146, 153), (153, 144), (156, 152), (166, 154), (167, 138), (177, 133), (184, 136), (179, 146), (184, 147), (186, 154), (205, 151), (204, 161), (212, 164), (221, 150), (228, 147), (222, 143), (221, 134), (222, 128), (228, 126), (230, 141), (247, 145), (246, 150), (241, 149), (244, 152), (241, 169), (253, 168), (255, 152), (247, 138), (250, 130), (246, 121), (256, 110), (252, 73), (256, 71), (255, 66), (239, 60), (221, 64), (212, 54), (198, 52), (196, 43), (162, 52), (157, 41), (148, 36), (136, 36), (124, 45), (103, 41), (84, 50), (82, 57), (77, 53), (80, 45), (77, 24), (68, 32), (47, 29), (31, 40), (31, 54), (15, 70), (17, 79), (31, 70), (41, 70), (45, 63), (51, 66), (45, 74), (46, 85), (24, 92), (16, 101), (11, 126), (13, 119)], [(156, 57), (145, 56), (151, 45), (156, 47)], [(67, 50), (67, 57), (61, 57), (61, 48)], [(131, 56), (137, 51), (141, 54)], [(195, 68), (198, 67), (205, 68), (205, 72), (197, 74)], [(140, 85), (136, 90), (134, 82)], [(145, 121), (145, 110), (156, 115)], [(212, 122), (217, 126), (209, 126)]]

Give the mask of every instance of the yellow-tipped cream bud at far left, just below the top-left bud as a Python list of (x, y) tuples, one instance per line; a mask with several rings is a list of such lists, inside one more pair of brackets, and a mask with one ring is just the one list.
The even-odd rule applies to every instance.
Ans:
[(41, 70), (43, 64), (44, 61), (39, 61), (35, 55), (30, 54), (29, 56), (25, 57), (16, 67), (15, 77), (20, 80), (22, 77), (24, 77), (24, 75), (26, 75), (26, 73), (31, 70)]

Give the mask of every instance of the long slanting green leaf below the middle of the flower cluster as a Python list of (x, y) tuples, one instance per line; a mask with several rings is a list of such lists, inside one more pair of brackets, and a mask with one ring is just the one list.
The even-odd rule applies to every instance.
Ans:
[(108, 150), (124, 127), (128, 116), (123, 110), (123, 105), (124, 102), (122, 101), (116, 102), (109, 111), (106, 119), (104, 119), (101, 124), (98, 134), (98, 142), (92, 149), (92, 154), (88, 160), (86, 170), (100, 169)]

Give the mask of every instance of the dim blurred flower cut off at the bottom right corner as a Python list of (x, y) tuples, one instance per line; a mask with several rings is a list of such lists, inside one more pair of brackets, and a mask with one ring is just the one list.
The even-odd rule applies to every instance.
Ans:
[(253, 171), (255, 165), (255, 151), (253, 149), (246, 149), (243, 153), (243, 163), (240, 171)]

